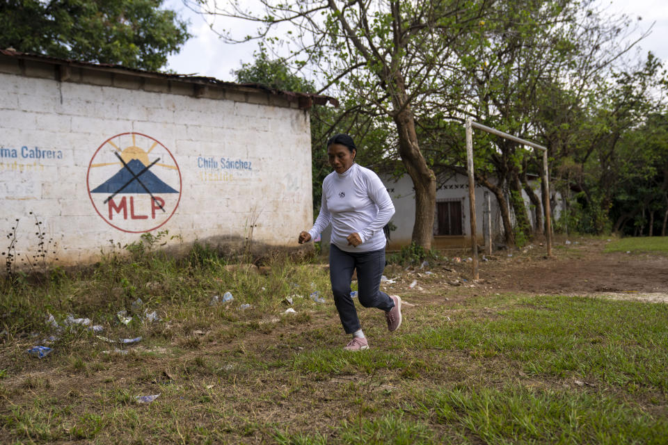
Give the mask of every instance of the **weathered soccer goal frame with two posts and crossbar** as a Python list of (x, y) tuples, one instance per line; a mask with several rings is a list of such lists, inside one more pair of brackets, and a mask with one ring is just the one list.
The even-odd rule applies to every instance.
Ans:
[[(475, 220), (475, 177), (473, 176), (473, 129), (486, 131), (487, 133), (500, 136), (502, 138), (513, 140), (516, 143), (527, 145), (534, 149), (539, 149), (543, 152), (543, 209), (545, 209), (545, 237), (548, 249), (548, 257), (552, 257), (552, 221), (550, 218), (550, 183), (548, 182), (548, 149), (542, 145), (513, 136), (509, 133), (504, 133), (495, 128), (487, 127), (486, 125), (473, 122), (470, 119), (466, 120), (466, 163), (468, 170), (468, 205), (470, 209), (471, 221), (471, 248), (473, 259), (473, 280), (477, 280), (478, 275), (478, 243), (476, 240), (477, 227)], [(491, 227), (489, 228), (491, 230)], [(491, 238), (491, 237), (490, 237)], [(490, 239), (491, 242), (491, 239)], [(491, 245), (491, 244), (490, 244)]]

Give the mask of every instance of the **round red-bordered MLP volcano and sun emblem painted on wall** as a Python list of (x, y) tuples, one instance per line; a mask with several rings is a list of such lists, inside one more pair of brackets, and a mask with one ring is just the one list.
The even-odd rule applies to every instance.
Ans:
[(178, 207), (181, 173), (167, 147), (141, 133), (121, 133), (98, 147), (88, 166), (97, 214), (123, 232), (150, 232)]

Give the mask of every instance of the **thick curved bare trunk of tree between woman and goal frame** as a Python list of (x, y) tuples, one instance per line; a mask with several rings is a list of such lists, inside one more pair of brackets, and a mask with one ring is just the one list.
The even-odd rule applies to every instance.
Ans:
[[(397, 81), (399, 83), (399, 81)], [(436, 213), (436, 175), (427, 165), (417, 144), (415, 118), (409, 106), (394, 116), (399, 133), (399, 154), (415, 188), (415, 224), (413, 243), (431, 249)]]

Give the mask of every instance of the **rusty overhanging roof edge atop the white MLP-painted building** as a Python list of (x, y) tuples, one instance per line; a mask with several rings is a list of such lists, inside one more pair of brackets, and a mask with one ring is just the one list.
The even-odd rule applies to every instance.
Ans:
[(170, 74), (165, 72), (152, 72), (146, 70), (139, 70), (137, 68), (128, 68), (122, 65), (113, 65), (111, 63), (84, 62), (81, 60), (44, 56), (42, 54), (22, 53), (19, 51), (15, 51), (14, 49), (11, 48), (0, 49), (0, 54), (3, 54), (3, 56), (19, 58), (24, 60), (37, 60), (45, 63), (53, 63), (54, 65), (67, 65), (70, 67), (82, 67), (82, 68), (102, 70), (107, 72), (122, 72), (122, 74), (126, 74), (129, 76), (134, 75), (139, 77), (152, 77), (154, 79), (175, 80), (187, 83), (195, 83), (198, 85), (215, 85), (225, 88), (234, 88), (237, 90), (250, 88), (254, 90), (260, 90), (263, 92), (269, 92), (272, 95), (285, 97), (289, 102), (298, 102), (299, 108), (310, 108), (313, 104), (317, 105), (331, 104), (333, 106), (339, 106), (339, 102), (334, 97), (316, 95), (307, 92), (277, 90), (276, 88), (270, 88), (260, 83), (234, 83), (234, 82), (221, 81), (214, 77), (207, 77), (207, 76), (192, 76), (189, 74)]

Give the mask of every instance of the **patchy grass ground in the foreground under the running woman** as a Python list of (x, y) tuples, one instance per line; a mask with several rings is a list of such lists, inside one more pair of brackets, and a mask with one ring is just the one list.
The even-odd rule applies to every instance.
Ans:
[[(418, 305), (404, 309), (397, 333), (361, 309), (372, 348), (346, 353), (326, 270), (287, 259), (270, 266), (254, 273), (204, 251), (6, 282), (2, 442), (668, 442), (667, 305), (408, 292)], [(308, 298), (313, 290), (326, 302)], [(225, 291), (232, 302), (209, 305)], [(285, 314), (287, 296), (296, 314)], [(121, 309), (133, 316), (128, 325)], [(161, 320), (141, 321), (143, 309)], [(47, 313), (60, 325), (68, 313), (87, 316), (107, 339), (143, 339), (123, 346), (81, 327), (54, 332)], [(58, 336), (53, 352), (29, 357), (49, 334)], [(136, 400), (152, 394), (152, 403)]]

